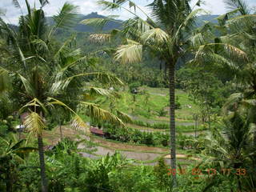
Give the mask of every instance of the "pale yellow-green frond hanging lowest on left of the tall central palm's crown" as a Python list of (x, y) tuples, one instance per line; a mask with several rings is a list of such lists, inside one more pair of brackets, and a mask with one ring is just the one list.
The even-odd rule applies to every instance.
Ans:
[(128, 44), (118, 47), (114, 59), (122, 63), (142, 62), (142, 44), (127, 39)]

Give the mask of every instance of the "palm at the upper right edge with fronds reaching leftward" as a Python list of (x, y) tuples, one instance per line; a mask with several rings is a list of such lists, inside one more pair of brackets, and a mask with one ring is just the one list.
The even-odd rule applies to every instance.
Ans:
[[(225, 2), (230, 7), (230, 12), (218, 17), (218, 26), (214, 27), (220, 29), (219, 35), (211, 35), (210, 42), (202, 39), (194, 62), (208, 69), (211, 64), (214, 71), (236, 82), (239, 93), (232, 94), (224, 108), (246, 103), (249, 106), (247, 110), (254, 110), (252, 101), (256, 96), (256, 17), (251, 14), (253, 10), (243, 0)], [(233, 53), (226, 49), (228, 46)], [(250, 118), (250, 121), (256, 122), (255, 118)], [(254, 138), (256, 141), (256, 133)]]

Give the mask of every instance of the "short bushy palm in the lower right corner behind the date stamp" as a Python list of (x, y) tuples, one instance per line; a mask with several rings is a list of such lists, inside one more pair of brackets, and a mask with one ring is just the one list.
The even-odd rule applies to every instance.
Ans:
[[(212, 133), (206, 136), (206, 148), (202, 151), (205, 154), (206, 164), (213, 166), (216, 170), (223, 170), (226, 167), (235, 171), (242, 171), (234, 178), (237, 181), (239, 190), (254, 190), (254, 163), (255, 146), (253, 134), (255, 124), (250, 123), (249, 114), (242, 110), (242, 107), (235, 111), (229, 111), (225, 116), (222, 129), (214, 129)], [(219, 169), (218, 169), (219, 168)], [(223, 173), (226, 174), (226, 173)], [(247, 175), (252, 186), (247, 185), (246, 178), (242, 182), (241, 175)], [(230, 175), (230, 177), (233, 177)], [(231, 179), (232, 180), (232, 179)], [(246, 188), (244, 188), (246, 187)]]

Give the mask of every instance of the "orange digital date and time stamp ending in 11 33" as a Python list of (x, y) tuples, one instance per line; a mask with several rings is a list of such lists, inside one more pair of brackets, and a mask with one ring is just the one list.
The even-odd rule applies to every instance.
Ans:
[(223, 174), (223, 175), (230, 175), (230, 174), (234, 174), (234, 175), (238, 175), (238, 176), (245, 176), (246, 175), (246, 169), (229, 169), (229, 168), (223, 168), (222, 170), (217, 170), (217, 169), (213, 169), (213, 168), (209, 168), (206, 170), (202, 170), (199, 168), (194, 168), (192, 170), (186, 170), (186, 169), (168, 169), (168, 175), (184, 175), (184, 174), (192, 174), (195, 176), (199, 176), (199, 175), (210, 175), (210, 176), (214, 176), (216, 174)]

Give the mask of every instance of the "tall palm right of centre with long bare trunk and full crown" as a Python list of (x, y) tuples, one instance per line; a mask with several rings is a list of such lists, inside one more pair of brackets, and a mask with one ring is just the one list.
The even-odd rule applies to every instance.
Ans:
[[(90, 38), (96, 42), (109, 41), (114, 36), (126, 38), (126, 45), (119, 46), (114, 58), (122, 63), (142, 61), (143, 50), (164, 62), (169, 70), (170, 88), (170, 156), (171, 168), (176, 169), (176, 130), (175, 130), (175, 66), (187, 54), (192, 35), (194, 18), (202, 10), (193, 10), (190, 0), (154, 0), (148, 7), (151, 18), (139, 6), (129, 0), (113, 2), (98, 1), (107, 10), (123, 9), (134, 15), (122, 22), (122, 30), (113, 30), (111, 34), (93, 34)], [(126, 9), (125, 3), (130, 8)], [(196, 3), (200, 6), (200, 1)], [(146, 20), (136, 14), (140, 10)], [(113, 18), (93, 18), (82, 21), (86, 25), (102, 26)], [(177, 186), (174, 175), (174, 186)]]

